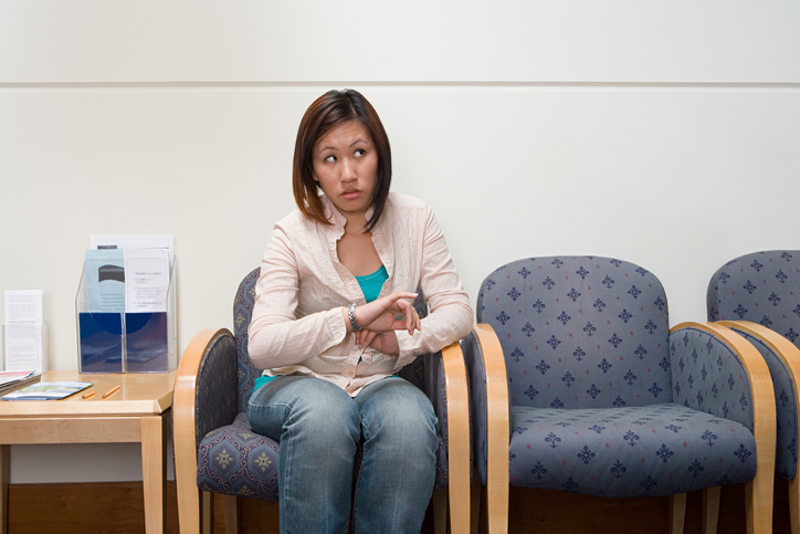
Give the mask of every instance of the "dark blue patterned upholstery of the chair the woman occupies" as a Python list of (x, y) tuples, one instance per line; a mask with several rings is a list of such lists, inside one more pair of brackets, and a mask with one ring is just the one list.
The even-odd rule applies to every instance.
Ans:
[[(280, 446), (252, 430), (248, 401), (255, 378), (261, 375), (248, 353), (248, 326), (253, 313), (260, 268), (241, 282), (233, 303), (234, 345), (214, 347), (198, 377), (198, 486), (203, 491), (277, 502)], [(414, 302), (421, 316), (427, 313), (422, 297)], [(235, 360), (233, 356), (235, 355)], [(400, 376), (423, 389), (439, 418), (436, 488), (448, 486), (446, 395), (441, 358), (420, 356)], [(232, 391), (236, 391), (236, 396)]]

